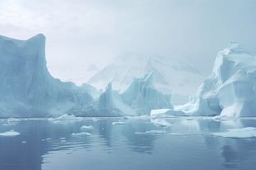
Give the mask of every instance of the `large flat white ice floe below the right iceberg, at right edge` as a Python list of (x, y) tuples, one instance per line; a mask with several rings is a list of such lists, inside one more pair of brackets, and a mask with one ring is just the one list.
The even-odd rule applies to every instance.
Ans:
[(231, 138), (252, 138), (256, 137), (256, 128), (238, 128), (238, 129), (228, 129), (226, 132), (215, 132), (215, 136), (220, 137), (231, 137)]

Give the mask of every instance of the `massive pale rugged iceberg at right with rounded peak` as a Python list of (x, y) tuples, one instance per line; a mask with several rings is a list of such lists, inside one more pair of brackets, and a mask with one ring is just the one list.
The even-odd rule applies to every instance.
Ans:
[(256, 56), (230, 42), (198, 93), (176, 109), (188, 115), (255, 116)]

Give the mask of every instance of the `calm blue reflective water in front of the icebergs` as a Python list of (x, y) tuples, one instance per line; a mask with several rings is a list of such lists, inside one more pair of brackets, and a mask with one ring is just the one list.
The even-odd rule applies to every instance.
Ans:
[[(125, 124), (112, 125), (119, 120)], [(94, 127), (86, 131), (91, 135), (78, 135), (82, 125)], [(212, 135), (247, 126), (256, 127), (256, 120), (84, 118), (7, 123), (2, 119), (0, 132), (15, 130), (21, 135), (0, 136), (0, 169), (256, 169), (256, 139)]]

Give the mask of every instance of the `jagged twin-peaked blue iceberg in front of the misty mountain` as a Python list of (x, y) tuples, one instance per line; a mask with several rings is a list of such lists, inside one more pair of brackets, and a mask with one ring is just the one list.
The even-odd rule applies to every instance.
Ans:
[(152, 73), (134, 78), (122, 94), (114, 91), (110, 83), (99, 99), (87, 106), (74, 107), (72, 113), (95, 116), (150, 115), (152, 109), (174, 108), (171, 96), (158, 91), (153, 79)]

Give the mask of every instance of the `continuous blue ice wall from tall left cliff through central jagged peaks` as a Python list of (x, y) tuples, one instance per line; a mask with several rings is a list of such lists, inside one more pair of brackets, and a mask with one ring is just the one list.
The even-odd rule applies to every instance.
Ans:
[(97, 91), (89, 84), (55, 79), (46, 67), (46, 37), (28, 40), (0, 35), (0, 117), (58, 117), (149, 115), (151, 109), (173, 108), (171, 96), (154, 86), (154, 74), (134, 78), (122, 94)]

